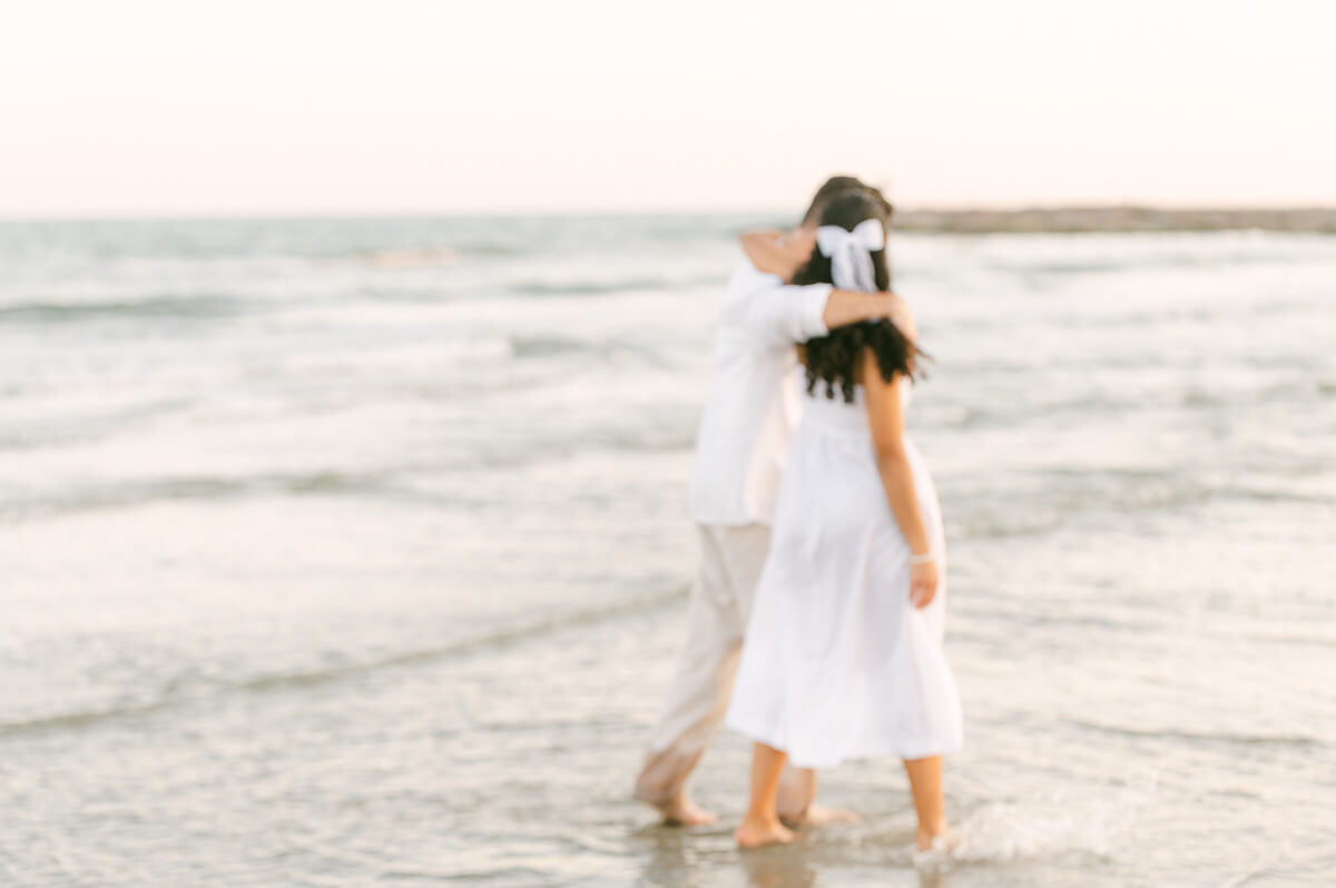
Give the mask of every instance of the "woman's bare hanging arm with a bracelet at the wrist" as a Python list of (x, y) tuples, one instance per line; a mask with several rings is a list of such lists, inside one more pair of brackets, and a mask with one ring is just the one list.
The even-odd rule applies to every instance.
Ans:
[[(863, 350), (863, 389), (867, 391), (867, 419), (872, 429), (876, 451), (876, 471), (882, 487), (895, 513), (895, 521), (910, 545), (911, 556), (933, 553), (914, 493), (914, 473), (910, 470), (904, 449), (904, 413), (900, 409), (899, 375), (890, 382), (882, 379), (876, 357), (871, 349)], [(910, 568), (910, 600), (915, 608), (925, 608), (937, 596), (937, 562), (925, 561)]]

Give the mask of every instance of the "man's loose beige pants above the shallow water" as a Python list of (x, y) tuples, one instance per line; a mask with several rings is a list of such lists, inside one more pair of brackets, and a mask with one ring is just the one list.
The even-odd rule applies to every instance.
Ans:
[[(752, 594), (770, 550), (766, 525), (696, 525), (696, 530), (700, 570), (687, 606), (687, 642), (636, 779), (636, 799), (656, 807), (683, 793), (728, 710)], [(814, 772), (786, 768), (779, 785), (780, 816), (802, 820), (815, 787)]]

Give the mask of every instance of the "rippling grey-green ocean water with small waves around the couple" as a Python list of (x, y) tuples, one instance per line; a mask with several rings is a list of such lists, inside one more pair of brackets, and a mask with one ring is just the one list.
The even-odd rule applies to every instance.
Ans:
[(629, 800), (755, 216), (0, 224), (0, 884), (1336, 883), (1336, 238), (896, 235), (951, 855)]

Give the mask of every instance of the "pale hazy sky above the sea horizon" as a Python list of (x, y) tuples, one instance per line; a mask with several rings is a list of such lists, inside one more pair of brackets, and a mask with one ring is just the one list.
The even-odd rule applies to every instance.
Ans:
[(1336, 0), (9, 3), (0, 216), (1336, 204)]

